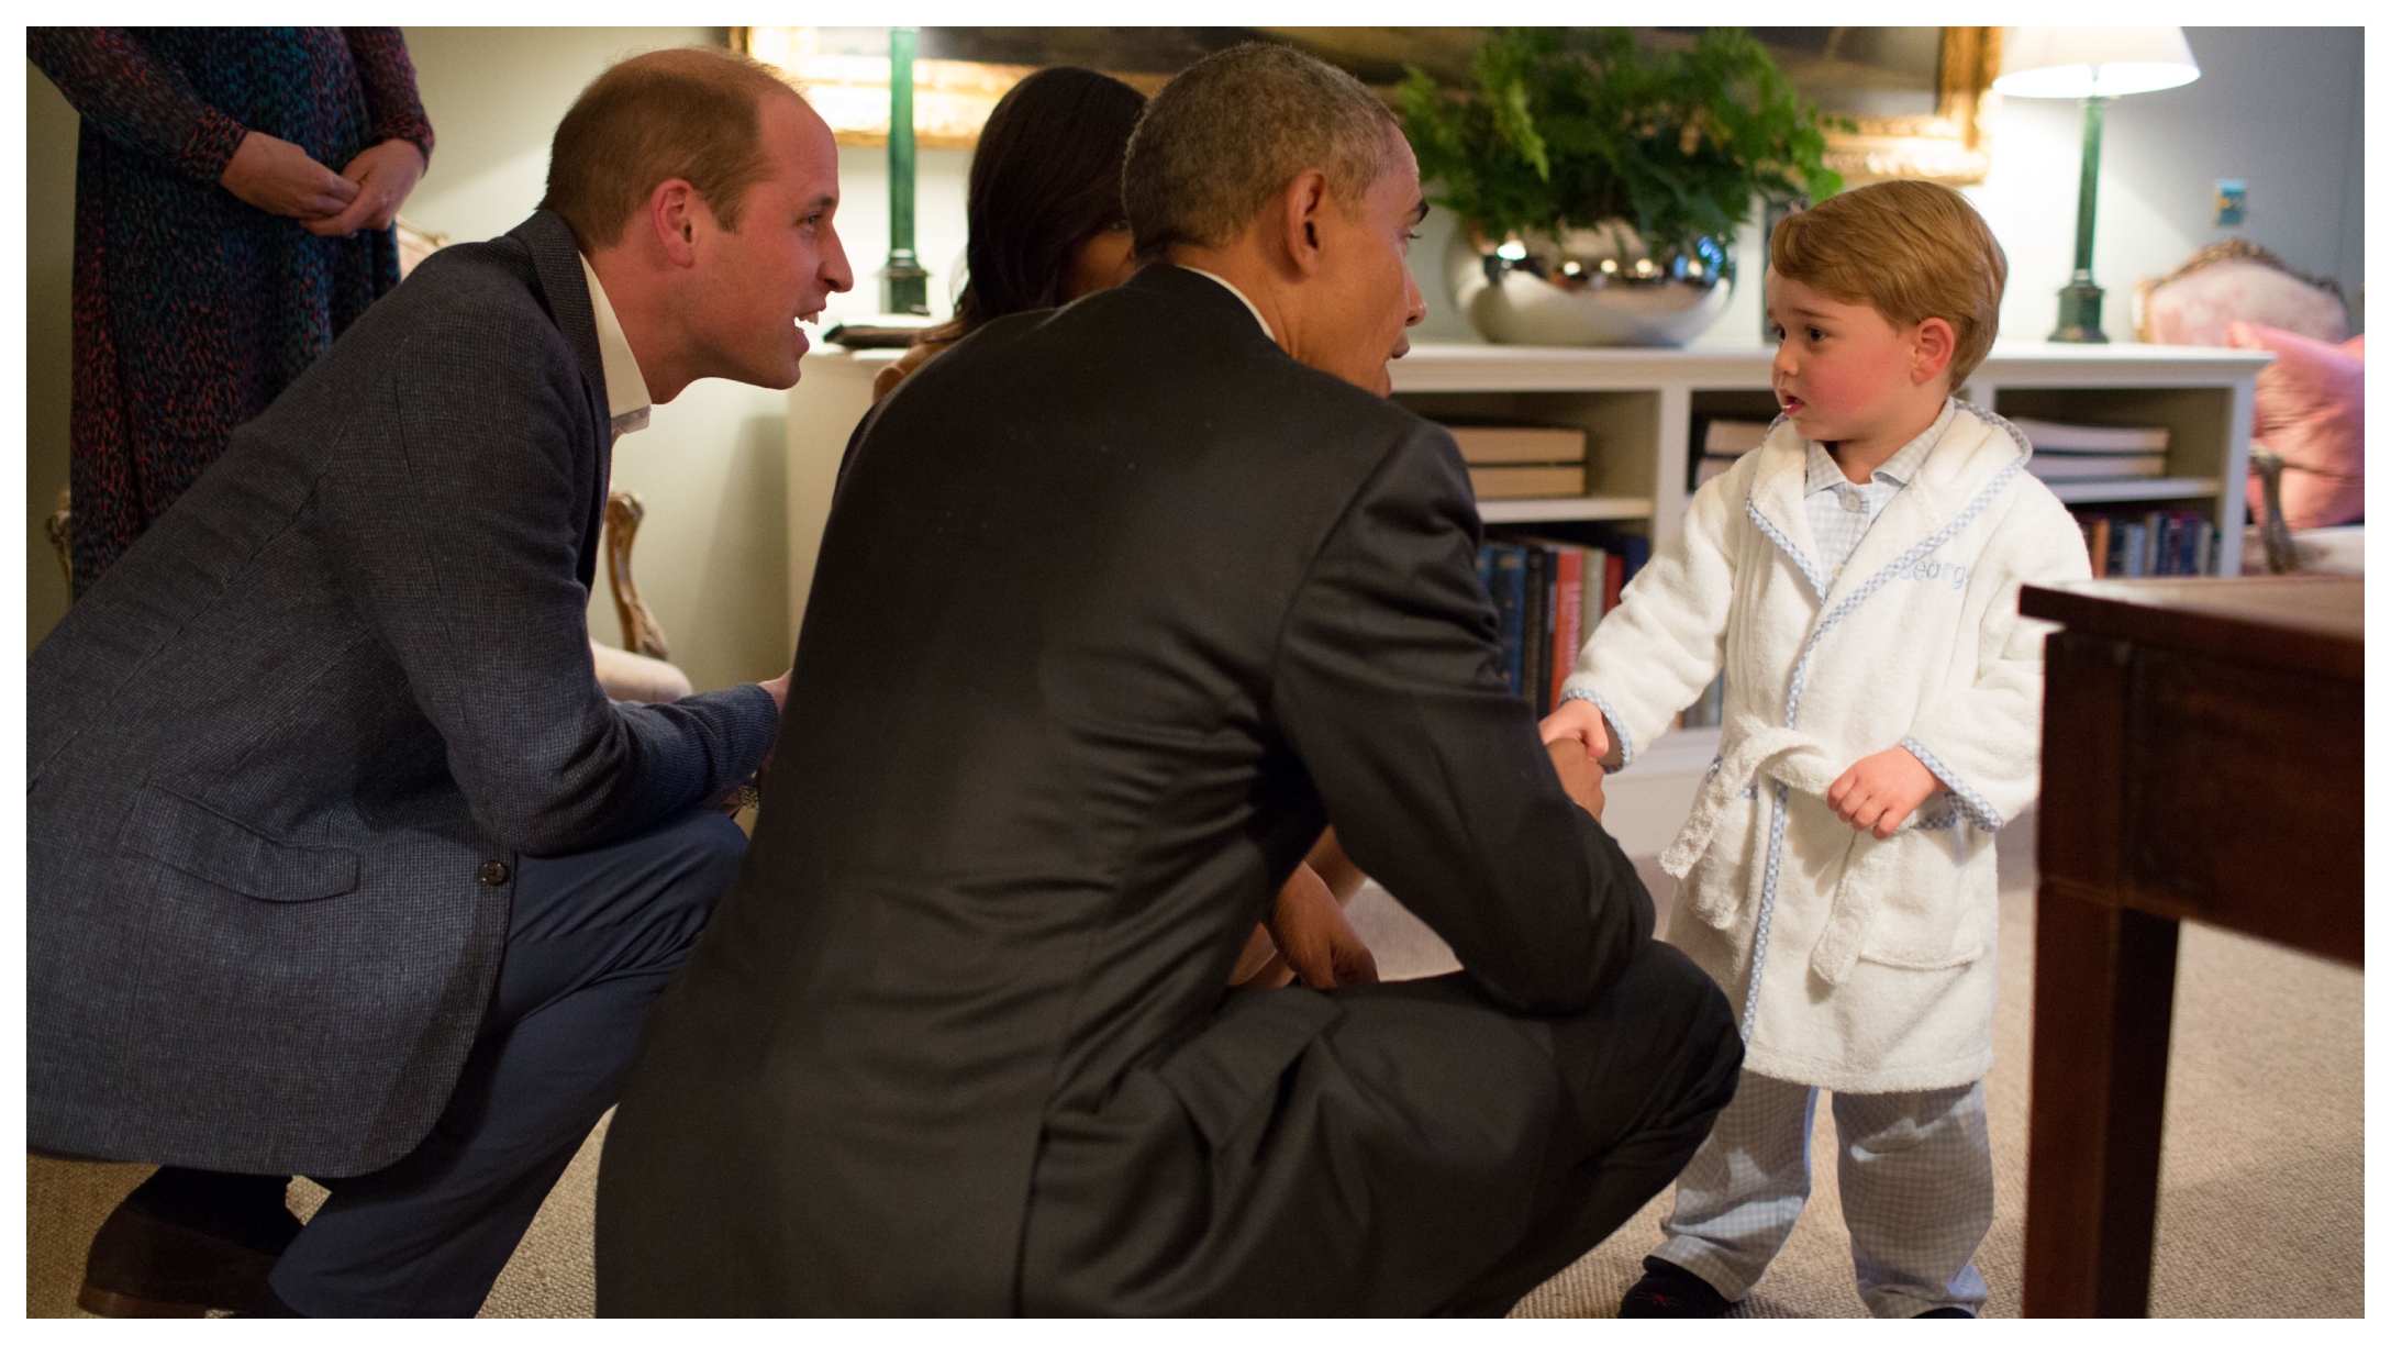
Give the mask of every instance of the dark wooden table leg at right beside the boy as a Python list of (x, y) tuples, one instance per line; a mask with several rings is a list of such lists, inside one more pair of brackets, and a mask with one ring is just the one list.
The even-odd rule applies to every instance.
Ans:
[(2150, 1316), (2176, 921), (2044, 883), (2025, 1316)]

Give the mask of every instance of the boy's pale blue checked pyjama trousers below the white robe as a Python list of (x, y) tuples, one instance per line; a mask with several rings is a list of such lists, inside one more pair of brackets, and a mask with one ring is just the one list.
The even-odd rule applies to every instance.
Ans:
[[(1810, 1199), (1817, 1089), (1743, 1075), (1736, 1101), (1676, 1182), (1655, 1256), (1741, 1300)], [(1985, 1082), (1915, 1094), (1834, 1094), (1836, 1175), (1860, 1302), (1875, 1316), (1985, 1307), (1975, 1249), (1992, 1230)]]

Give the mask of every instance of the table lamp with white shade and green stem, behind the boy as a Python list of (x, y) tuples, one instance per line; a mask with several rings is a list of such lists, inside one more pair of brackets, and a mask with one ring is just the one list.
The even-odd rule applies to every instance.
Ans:
[(2183, 29), (2008, 29), (2001, 34), (2006, 98), (2083, 98), (2085, 172), (2075, 194), (2075, 275), (2059, 292), (2051, 340), (2104, 342), (2102, 290), (2092, 282), (2092, 199), (2099, 187), (2099, 122), (2109, 98), (2150, 93), (2200, 79)]

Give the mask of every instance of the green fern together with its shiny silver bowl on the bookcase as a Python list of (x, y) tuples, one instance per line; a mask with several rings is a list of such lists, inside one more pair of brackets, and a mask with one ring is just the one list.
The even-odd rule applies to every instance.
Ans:
[(1743, 29), (1645, 53), (1631, 29), (1494, 29), (1475, 89), (1396, 89), (1435, 201), (1461, 218), (1454, 304), (1494, 342), (1683, 345), (1724, 309), (1760, 199), (1843, 187), (1812, 103)]

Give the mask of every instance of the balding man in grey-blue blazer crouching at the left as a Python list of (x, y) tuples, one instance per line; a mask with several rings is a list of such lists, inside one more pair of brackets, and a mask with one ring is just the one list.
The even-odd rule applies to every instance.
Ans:
[(471, 1316), (739, 866), (710, 804), (787, 677), (612, 704), (588, 586), (650, 400), (796, 383), (837, 148), (653, 53), (545, 206), (366, 311), (26, 668), (29, 1137), (165, 1163), (96, 1311)]

